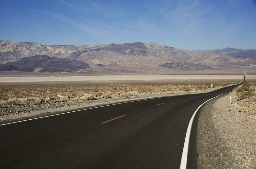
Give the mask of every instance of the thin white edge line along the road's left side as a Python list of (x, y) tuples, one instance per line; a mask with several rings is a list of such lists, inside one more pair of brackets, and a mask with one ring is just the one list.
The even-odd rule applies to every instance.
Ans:
[[(156, 99), (156, 98), (161, 98), (161, 97), (148, 98), (148, 99), (143, 99), (143, 100)], [(134, 100), (134, 101), (129, 101), (129, 102), (138, 102), (138, 101), (142, 101), (142, 100)], [(99, 107), (92, 107), (92, 108), (82, 109), (82, 110), (75, 110), (75, 111), (70, 111), (70, 112), (66, 112), (66, 113), (60, 113), (60, 114), (50, 115), (50, 116), (43, 116), (43, 117), (31, 118), (31, 119), (27, 119), (27, 120), (21, 120), (21, 121), (17, 121), (17, 122), (12, 122), (12, 123), (0, 124), (0, 126), (7, 125), (7, 124), (13, 124), (13, 123), (25, 122), (25, 121), (29, 121), (29, 120), (36, 120), (36, 119), (45, 118), (45, 117), (58, 116), (58, 115), (63, 115), (63, 114), (67, 114), (67, 113), (73, 113), (73, 112), (77, 112), (77, 111), (83, 111), (83, 110), (96, 109), (96, 108), (100, 108), (100, 107), (112, 106), (112, 105), (117, 105), (117, 104), (129, 103), (129, 102), (122, 102), (122, 103), (116, 103), (116, 104), (109, 104), (109, 105), (104, 105), (104, 106), (99, 106)]]

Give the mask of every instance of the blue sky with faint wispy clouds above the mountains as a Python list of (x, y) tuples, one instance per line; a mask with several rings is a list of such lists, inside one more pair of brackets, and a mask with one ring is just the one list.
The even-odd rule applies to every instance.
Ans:
[(0, 1), (0, 40), (256, 49), (255, 0)]

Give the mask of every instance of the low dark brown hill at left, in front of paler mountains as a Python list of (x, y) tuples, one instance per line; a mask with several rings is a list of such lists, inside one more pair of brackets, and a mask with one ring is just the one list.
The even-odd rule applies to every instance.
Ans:
[(39, 72), (50, 73), (74, 72), (78, 71), (77, 69), (85, 69), (89, 67), (87, 63), (78, 60), (61, 59), (47, 55), (36, 55), (21, 58), (20, 60), (9, 62), (3, 65), (6, 68), (2, 71), (7, 71), (8, 67), (12, 68), (12, 70), (20, 72), (34, 72), (36, 68), (40, 68), (42, 70)]

